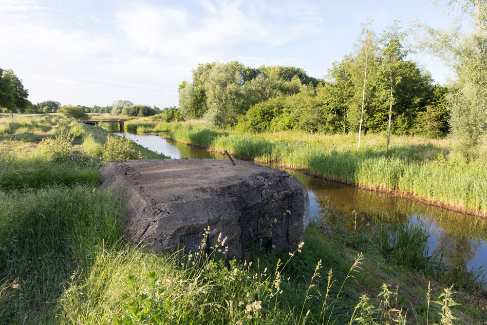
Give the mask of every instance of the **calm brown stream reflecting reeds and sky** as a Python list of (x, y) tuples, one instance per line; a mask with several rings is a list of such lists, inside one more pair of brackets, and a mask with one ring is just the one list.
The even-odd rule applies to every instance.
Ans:
[[(125, 135), (151, 151), (171, 158), (227, 159), (225, 155), (175, 143), (157, 135), (115, 134)], [(389, 194), (360, 190), (302, 172), (287, 172), (296, 176), (308, 190), (310, 217), (316, 222), (332, 225), (338, 217), (348, 218), (348, 227), (353, 229), (356, 215), (358, 222), (365, 223), (373, 223), (378, 218), (391, 222), (410, 220), (423, 223), (431, 231), (430, 252), (445, 249), (443, 256), (448, 262), (459, 265), (463, 261), (469, 269), (487, 266), (487, 222), (482, 219)]]

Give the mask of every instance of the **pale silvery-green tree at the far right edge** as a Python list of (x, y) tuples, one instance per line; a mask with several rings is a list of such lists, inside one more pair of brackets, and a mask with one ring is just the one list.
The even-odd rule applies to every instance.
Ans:
[[(426, 37), (419, 48), (440, 59), (454, 72), (458, 88), (450, 93), (450, 126), (457, 150), (466, 161), (474, 159), (487, 131), (487, 0), (447, 0), (452, 14), (467, 17), (466, 31), (456, 20), (448, 29), (434, 29), (418, 22)], [(442, 1), (437, 1), (440, 5)]]

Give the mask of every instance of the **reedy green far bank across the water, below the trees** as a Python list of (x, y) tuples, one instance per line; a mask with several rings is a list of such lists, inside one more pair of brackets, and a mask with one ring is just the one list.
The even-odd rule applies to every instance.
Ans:
[[(385, 137), (365, 135), (356, 150), (355, 135), (303, 132), (240, 134), (210, 130), (202, 122), (133, 121), (137, 132), (169, 132), (174, 141), (224, 150), (242, 159), (274, 162), (361, 189), (391, 193), (421, 203), (487, 218), (487, 146), (481, 160), (465, 163), (450, 148), (451, 139), (393, 136), (390, 156)], [(485, 152), (484, 152), (485, 151)]]

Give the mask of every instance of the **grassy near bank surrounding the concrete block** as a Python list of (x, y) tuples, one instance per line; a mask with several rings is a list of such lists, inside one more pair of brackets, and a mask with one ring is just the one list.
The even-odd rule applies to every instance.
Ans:
[(461, 324), (487, 319), (478, 287), (451, 293), (412, 225), (311, 225), (299, 250), (244, 263), (134, 246), (125, 203), (98, 189), (107, 135), (54, 115), (0, 119), (0, 324), (432, 324), (445, 306)]

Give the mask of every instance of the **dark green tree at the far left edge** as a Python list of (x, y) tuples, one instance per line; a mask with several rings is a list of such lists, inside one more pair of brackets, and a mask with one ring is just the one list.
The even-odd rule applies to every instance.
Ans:
[(0, 71), (0, 106), (7, 109), (12, 116), (15, 109), (25, 109), (28, 106), (29, 91), (24, 89), (22, 80), (12, 70)]

